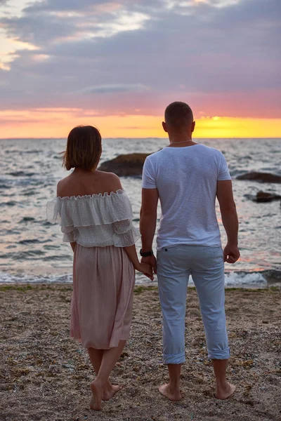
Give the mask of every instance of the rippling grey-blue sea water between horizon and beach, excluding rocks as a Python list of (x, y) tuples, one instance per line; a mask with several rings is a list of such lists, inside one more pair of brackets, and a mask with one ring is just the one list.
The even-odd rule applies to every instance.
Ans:
[[(241, 258), (235, 265), (226, 264), (226, 285), (281, 285), (280, 201), (254, 203), (251, 200), (259, 190), (281, 194), (281, 185), (235, 179), (247, 171), (281, 175), (281, 140), (198, 142), (220, 149), (233, 177)], [(0, 140), (2, 283), (72, 281), (72, 250), (62, 243), (60, 228), (46, 222), (46, 201), (53, 199), (58, 180), (67, 175), (59, 155), (65, 143), (64, 139)], [(165, 139), (106, 139), (101, 162), (123, 153), (155, 152), (165, 145)], [(134, 223), (138, 225), (141, 178), (122, 178), (122, 185), (131, 199)], [(218, 221), (225, 243), (219, 212)], [(145, 276), (137, 274), (137, 283), (146, 281)]]

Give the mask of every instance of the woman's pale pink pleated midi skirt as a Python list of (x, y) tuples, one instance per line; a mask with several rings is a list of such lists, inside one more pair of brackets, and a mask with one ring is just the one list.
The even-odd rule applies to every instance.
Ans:
[(110, 349), (128, 340), (135, 270), (121, 247), (82, 247), (73, 261), (70, 335), (85, 348)]

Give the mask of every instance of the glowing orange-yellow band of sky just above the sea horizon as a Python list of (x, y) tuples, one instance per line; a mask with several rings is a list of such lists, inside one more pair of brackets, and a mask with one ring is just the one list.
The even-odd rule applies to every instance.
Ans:
[[(40, 108), (0, 111), (1, 138), (65, 138), (79, 124), (97, 126), (103, 138), (164, 138), (162, 116), (100, 116), (80, 108)], [(195, 138), (280, 138), (281, 119), (201, 116)]]

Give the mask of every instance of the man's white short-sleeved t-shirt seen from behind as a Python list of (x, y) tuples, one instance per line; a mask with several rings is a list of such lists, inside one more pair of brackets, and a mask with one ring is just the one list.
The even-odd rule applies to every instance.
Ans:
[(231, 177), (225, 157), (212, 147), (165, 147), (145, 159), (142, 187), (158, 190), (162, 208), (157, 250), (221, 246), (215, 208), (219, 180)]

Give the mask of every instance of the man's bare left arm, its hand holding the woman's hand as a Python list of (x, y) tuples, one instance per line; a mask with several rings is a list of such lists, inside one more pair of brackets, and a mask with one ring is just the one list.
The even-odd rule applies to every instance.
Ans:
[[(144, 252), (152, 250), (152, 242), (155, 235), (157, 222), (158, 199), (159, 194), (157, 189), (142, 190), (140, 231), (142, 248)], [(150, 256), (149, 258), (142, 258), (141, 261), (152, 265), (156, 273), (155, 256)]]

